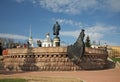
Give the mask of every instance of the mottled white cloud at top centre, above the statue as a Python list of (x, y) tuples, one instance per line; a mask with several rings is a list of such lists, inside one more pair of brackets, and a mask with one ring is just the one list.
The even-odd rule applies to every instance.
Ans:
[(53, 12), (79, 14), (97, 5), (96, 0), (39, 0), (40, 6)]

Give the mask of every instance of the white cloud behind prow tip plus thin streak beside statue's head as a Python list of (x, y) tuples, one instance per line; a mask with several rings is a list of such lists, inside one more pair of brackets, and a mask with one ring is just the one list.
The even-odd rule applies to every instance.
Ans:
[(56, 19), (61, 24), (71, 25), (73, 27), (80, 27), (74, 31), (62, 31), (60, 32), (63, 36), (72, 36), (78, 37), (81, 29), (85, 29), (86, 35), (89, 35), (92, 40), (100, 40), (102, 39), (106, 33), (110, 33), (111, 31), (115, 31), (116, 27), (108, 26), (100, 23), (96, 23), (95, 25), (89, 26), (81, 22), (68, 20), (68, 19)]

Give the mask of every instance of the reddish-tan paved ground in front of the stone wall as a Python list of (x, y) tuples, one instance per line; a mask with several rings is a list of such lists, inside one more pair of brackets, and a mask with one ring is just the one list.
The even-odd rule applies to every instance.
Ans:
[(83, 80), (83, 82), (120, 82), (120, 69), (115, 68), (95, 71), (39, 71), (39, 72), (34, 71), (19, 73), (0, 71), (0, 78), (10, 77), (16, 78), (64, 77), (80, 79)]

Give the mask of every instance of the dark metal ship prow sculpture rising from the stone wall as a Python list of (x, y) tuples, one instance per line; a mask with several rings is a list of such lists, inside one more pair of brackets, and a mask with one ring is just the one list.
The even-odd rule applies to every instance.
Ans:
[(82, 29), (77, 41), (73, 45), (68, 46), (67, 48), (69, 58), (74, 62), (80, 61), (80, 59), (85, 53), (84, 36), (84, 29)]

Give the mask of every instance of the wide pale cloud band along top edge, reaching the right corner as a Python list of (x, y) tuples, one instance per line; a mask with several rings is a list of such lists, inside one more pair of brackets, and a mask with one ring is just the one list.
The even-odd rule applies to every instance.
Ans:
[(120, 0), (16, 0), (18, 3), (25, 1), (55, 13), (79, 14), (87, 10), (120, 12)]

